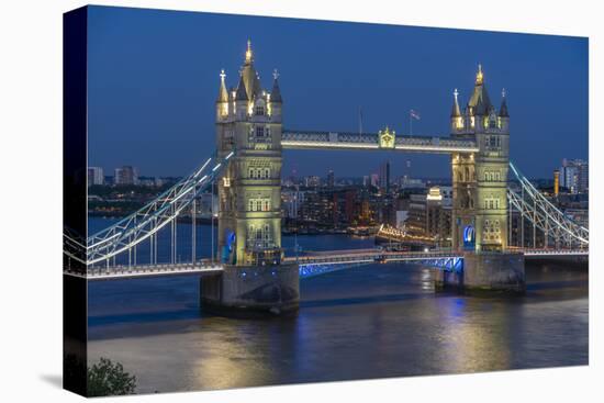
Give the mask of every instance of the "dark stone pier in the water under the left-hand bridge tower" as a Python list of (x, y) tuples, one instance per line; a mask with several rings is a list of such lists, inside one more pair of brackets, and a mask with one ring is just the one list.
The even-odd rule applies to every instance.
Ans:
[(200, 279), (202, 310), (226, 316), (291, 315), (300, 302), (298, 264), (225, 266)]

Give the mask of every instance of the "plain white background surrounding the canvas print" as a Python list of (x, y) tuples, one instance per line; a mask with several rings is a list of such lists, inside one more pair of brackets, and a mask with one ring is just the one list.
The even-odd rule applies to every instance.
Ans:
[[(96, 1), (97, 4), (590, 36), (591, 200), (602, 195), (603, 30), (597, 1)], [(61, 13), (80, 1), (0, 3), (0, 400), (79, 401), (61, 372)], [(491, 8), (489, 8), (491, 7)], [(377, 63), (381, 63), (379, 60)], [(571, 100), (561, 100), (569, 102)], [(559, 116), (552, 116), (556, 119)], [(563, 116), (562, 116), (563, 117)], [(44, 197), (42, 200), (41, 198)], [(602, 396), (602, 210), (591, 209), (590, 367), (271, 387), (131, 402), (584, 402)], [(51, 212), (51, 213), (49, 213)], [(32, 230), (36, 230), (35, 233)], [(42, 228), (42, 230), (41, 230)], [(600, 307), (600, 309), (599, 309)], [(600, 382), (597, 382), (600, 380)], [(600, 384), (599, 384), (600, 383)], [(597, 398), (596, 398), (597, 396)], [(103, 402), (125, 402), (108, 399)]]

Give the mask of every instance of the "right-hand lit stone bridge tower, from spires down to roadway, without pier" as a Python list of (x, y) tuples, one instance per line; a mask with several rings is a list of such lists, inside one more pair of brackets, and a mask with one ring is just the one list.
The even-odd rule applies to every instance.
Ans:
[(452, 245), (466, 250), (507, 249), (507, 170), (510, 115), (502, 91), (495, 110), (479, 65), (474, 89), (461, 112), (457, 89), (451, 110), (451, 136), (477, 142), (477, 154), (452, 155)]

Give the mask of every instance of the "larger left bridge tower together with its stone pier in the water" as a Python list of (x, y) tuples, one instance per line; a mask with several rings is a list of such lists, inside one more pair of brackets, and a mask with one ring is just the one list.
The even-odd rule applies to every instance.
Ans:
[(247, 42), (237, 87), (221, 71), (216, 100), (219, 156), (231, 152), (217, 186), (217, 256), (222, 275), (201, 280), (202, 306), (237, 311), (298, 310), (298, 265), (281, 248), (281, 92), (262, 89)]

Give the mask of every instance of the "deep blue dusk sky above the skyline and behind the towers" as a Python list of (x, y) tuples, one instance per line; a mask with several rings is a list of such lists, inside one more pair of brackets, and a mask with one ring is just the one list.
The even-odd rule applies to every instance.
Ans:
[[(358, 132), (389, 125), (448, 135), (452, 91), (463, 107), (479, 63), (499, 108), (505, 88), (511, 159), (551, 177), (562, 158), (588, 159), (588, 40), (396, 25), (89, 8), (89, 166), (183, 176), (215, 148), (220, 70), (235, 87), (247, 40), (270, 90), (279, 70), (283, 127)], [(450, 176), (449, 158), (385, 152), (283, 153), (282, 176)], [(411, 161), (411, 168), (406, 161)]]

